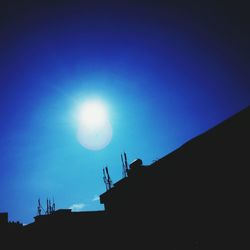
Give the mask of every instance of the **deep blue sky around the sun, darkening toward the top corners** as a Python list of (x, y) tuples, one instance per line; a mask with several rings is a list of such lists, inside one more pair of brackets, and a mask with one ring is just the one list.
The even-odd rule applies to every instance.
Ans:
[[(102, 167), (119, 180), (121, 152), (150, 164), (250, 104), (243, 1), (17, 2), (0, 8), (0, 211), (11, 220), (32, 222), (39, 197), (102, 209)], [(113, 127), (101, 151), (75, 135), (76, 104), (92, 95)]]

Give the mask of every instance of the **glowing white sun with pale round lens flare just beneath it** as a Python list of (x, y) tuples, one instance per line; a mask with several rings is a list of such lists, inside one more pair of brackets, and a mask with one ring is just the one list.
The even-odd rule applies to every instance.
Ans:
[(112, 138), (112, 126), (106, 105), (100, 100), (89, 100), (81, 104), (77, 112), (77, 139), (90, 150), (105, 148)]

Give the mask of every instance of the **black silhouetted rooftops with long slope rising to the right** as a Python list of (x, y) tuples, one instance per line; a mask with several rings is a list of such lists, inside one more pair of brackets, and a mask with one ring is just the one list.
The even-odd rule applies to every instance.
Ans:
[(151, 165), (132, 162), (124, 178), (100, 195), (105, 211), (38, 215), (24, 227), (22, 240), (31, 248), (40, 242), (91, 249), (243, 249), (249, 141), (250, 107)]

